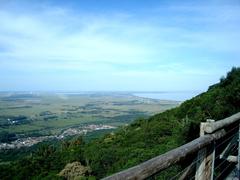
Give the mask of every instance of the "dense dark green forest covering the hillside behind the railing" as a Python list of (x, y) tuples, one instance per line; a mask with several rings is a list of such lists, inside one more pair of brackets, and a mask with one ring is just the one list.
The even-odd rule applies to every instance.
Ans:
[[(48, 142), (0, 165), (0, 179), (99, 179), (198, 137), (199, 124), (240, 111), (240, 68), (179, 107), (140, 118), (99, 139)], [(7, 152), (5, 152), (7, 153)]]

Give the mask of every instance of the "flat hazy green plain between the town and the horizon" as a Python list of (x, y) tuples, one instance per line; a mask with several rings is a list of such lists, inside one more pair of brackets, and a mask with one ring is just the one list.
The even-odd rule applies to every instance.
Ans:
[(178, 104), (130, 93), (0, 93), (0, 135), (10, 141), (16, 135), (49, 136), (79, 126), (119, 127)]

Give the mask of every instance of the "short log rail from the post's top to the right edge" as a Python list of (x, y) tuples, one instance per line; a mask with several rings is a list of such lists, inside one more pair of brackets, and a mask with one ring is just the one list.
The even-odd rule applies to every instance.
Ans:
[(228, 118), (216, 121), (214, 123), (209, 123), (205, 126), (205, 132), (206, 133), (213, 133), (214, 131), (221, 129), (223, 127), (226, 127), (234, 122), (237, 122), (240, 120), (240, 112), (236, 113)]

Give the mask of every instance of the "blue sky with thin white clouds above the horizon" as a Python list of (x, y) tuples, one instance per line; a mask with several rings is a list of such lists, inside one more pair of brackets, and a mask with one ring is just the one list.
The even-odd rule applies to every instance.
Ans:
[(239, 29), (239, 0), (0, 0), (0, 91), (205, 91)]

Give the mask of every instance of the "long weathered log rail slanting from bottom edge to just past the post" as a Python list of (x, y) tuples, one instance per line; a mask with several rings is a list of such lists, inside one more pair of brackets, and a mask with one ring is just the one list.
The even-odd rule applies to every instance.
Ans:
[(104, 178), (104, 180), (130, 180), (130, 179), (145, 179), (151, 175), (156, 174), (159, 171), (162, 171), (182, 159), (187, 155), (195, 153), (202, 149), (203, 147), (209, 145), (215, 140), (218, 140), (224, 137), (226, 132), (224, 130), (218, 131), (214, 134), (207, 134), (202, 137), (199, 137), (183, 146), (180, 146), (176, 149), (173, 149), (165, 154), (154, 157), (144, 163), (141, 163), (137, 166), (124, 170), (122, 172), (113, 174), (109, 177)]

